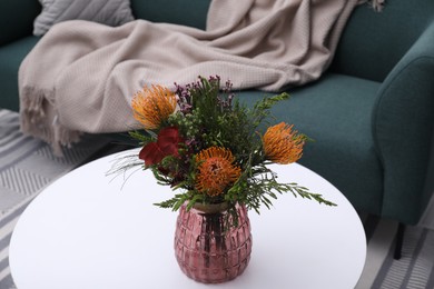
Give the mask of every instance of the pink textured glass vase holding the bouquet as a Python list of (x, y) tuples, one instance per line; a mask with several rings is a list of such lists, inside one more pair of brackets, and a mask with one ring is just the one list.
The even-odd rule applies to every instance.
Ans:
[[(209, 211), (183, 206), (175, 231), (175, 253), (189, 278), (204, 283), (220, 283), (246, 269), (251, 252), (250, 222), (245, 206), (236, 206), (238, 223), (227, 210)], [(207, 212), (205, 212), (207, 211)]]

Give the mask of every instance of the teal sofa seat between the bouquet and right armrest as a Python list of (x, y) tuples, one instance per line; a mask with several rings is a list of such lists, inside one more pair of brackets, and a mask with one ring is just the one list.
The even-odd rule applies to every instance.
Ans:
[[(383, 196), (383, 171), (371, 129), (378, 88), (378, 82), (326, 73), (303, 89), (290, 89), (288, 103), (273, 109), (276, 122), (294, 123), (315, 140), (305, 146), (299, 162), (337, 187), (356, 209), (375, 215)], [(253, 103), (264, 92), (239, 97)]]

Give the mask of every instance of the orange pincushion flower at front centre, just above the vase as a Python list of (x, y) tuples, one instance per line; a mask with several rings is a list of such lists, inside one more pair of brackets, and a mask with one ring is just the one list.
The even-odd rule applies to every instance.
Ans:
[(241, 169), (233, 165), (235, 158), (230, 150), (210, 147), (196, 156), (199, 163), (196, 189), (208, 196), (221, 195), (225, 188), (234, 183)]

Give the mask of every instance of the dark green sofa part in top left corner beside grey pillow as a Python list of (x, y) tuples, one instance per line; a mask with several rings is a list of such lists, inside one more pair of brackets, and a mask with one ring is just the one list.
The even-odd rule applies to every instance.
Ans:
[(0, 46), (12, 42), (33, 31), (34, 18), (40, 13), (38, 0), (0, 1)]

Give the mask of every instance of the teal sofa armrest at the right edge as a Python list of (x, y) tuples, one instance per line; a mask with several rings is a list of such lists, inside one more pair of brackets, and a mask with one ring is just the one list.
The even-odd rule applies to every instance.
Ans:
[(434, 131), (434, 21), (382, 84), (373, 112), (374, 141), (384, 166), (385, 217), (414, 225), (432, 191), (427, 176)]

